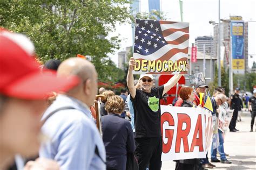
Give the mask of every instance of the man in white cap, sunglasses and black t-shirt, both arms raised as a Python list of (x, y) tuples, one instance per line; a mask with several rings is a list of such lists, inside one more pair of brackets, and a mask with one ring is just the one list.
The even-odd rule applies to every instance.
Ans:
[(160, 126), (160, 99), (169, 91), (182, 76), (174, 75), (167, 83), (160, 87), (153, 86), (153, 76), (142, 74), (139, 77), (140, 89), (133, 84), (133, 68), (136, 62), (133, 58), (129, 62), (127, 86), (134, 104), (136, 156), (139, 169), (160, 169), (162, 139)]

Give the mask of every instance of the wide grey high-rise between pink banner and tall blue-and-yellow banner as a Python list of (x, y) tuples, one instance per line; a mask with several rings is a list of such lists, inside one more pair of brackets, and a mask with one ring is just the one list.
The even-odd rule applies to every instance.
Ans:
[(212, 55), (214, 54), (214, 41), (213, 37), (203, 36), (197, 37), (195, 39), (195, 44), (197, 46), (197, 51), (204, 52), (204, 45), (205, 45), (205, 54)]

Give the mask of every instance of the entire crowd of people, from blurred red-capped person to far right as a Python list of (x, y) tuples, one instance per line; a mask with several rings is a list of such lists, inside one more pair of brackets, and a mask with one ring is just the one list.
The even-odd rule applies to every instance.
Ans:
[[(177, 84), (174, 75), (163, 86), (153, 87), (151, 74), (134, 80), (136, 62), (129, 61), (127, 87), (121, 95), (97, 85), (97, 72), (90, 61), (69, 58), (49, 60), (42, 67), (35, 60), (32, 42), (22, 34), (0, 30), (0, 169), (137, 169), (161, 168), (163, 141), (160, 125), (160, 100)], [(208, 86), (199, 82), (195, 89), (179, 90), (179, 107), (204, 107)], [(199, 94), (203, 93), (200, 103)], [(96, 126), (95, 97), (100, 100), (102, 134)], [(239, 89), (225, 96), (215, 89), (212, 115), (219, 105), (234, 109), (230, 131), (242, 108)], [(256, 115), (256, 90), (248, 99), (252, 112), (251, 131)], [(211, 162), (231, 164), (224, 152), (224, 133), (218, 147), (211, 148)], [(217, 159), (217, 152), (220, 160)], [(129, 157), (128, 157), (129, 155)], [(31, 160), (30, 160), (31, 159)], [(134, 169), (130, 168), (130, 169)], [(176, 160), (176, 169), (213, 168), (205, 159)]]

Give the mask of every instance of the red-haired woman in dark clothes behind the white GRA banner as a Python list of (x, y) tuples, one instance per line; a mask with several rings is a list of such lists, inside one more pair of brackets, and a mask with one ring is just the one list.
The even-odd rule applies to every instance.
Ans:
[[(196, 108), (196, 104), (193, 103), (194, 93), (193, 88), (191, 87), (182, 87), (179, 91), (179, 97), (182, 98), (183, 103), (181, 107)], [(200, 165), (200, 159), (185, 159), (185, 160), (176, 160), (176, 170), (199, 170), (202, 169)]]

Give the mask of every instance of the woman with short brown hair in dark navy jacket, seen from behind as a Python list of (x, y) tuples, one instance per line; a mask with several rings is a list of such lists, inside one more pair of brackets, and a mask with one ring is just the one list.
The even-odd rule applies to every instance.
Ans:
[(117, 95), (109, 97), (105, 103), (105, 110), (109, 113), (102, 117), (107, 170), (124, 170), (126, 154), (135, 151), (135, 144), (130, 122), (120, 117), (124, 111), (123, 98)]

